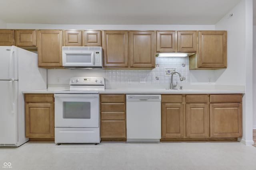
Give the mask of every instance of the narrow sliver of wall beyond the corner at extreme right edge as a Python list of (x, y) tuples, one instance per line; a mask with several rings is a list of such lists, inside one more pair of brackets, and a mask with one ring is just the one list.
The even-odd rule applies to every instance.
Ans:
[[(253, 103), (256, 101), (256, 25), (253, 26)], [(253, 129), (256, 129), (256, 105), (253, 105)]]

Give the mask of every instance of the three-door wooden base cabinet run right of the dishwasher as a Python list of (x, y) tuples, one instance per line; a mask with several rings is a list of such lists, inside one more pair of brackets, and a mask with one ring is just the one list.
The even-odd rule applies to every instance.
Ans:
[[(174, 103), (176, 102), (176, 103)], [(162, 95), (161, 141), (235, 141), (242, 137), (242, 94)]]

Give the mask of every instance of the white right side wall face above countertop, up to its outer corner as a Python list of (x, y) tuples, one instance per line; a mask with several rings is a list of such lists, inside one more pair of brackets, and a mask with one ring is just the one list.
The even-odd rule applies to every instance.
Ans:
[[(230, 14), (234, 16), (229, 17)], [(245, 85), (245, 1), (242, 0), (215, 25), (227, 30), (227, 68), (215, 71), (216, 84)]]

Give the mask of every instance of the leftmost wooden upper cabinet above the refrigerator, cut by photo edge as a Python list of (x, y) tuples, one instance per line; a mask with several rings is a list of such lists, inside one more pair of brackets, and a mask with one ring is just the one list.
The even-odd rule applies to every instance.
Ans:
[(0, 29), (0, 45), (14, 45), (14, 30)]

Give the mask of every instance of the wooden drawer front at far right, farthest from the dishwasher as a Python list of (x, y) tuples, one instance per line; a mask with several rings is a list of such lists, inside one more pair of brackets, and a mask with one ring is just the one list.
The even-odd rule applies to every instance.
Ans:
[(242, 94), (216, 94), (210, 95), (210, 103), (240, 103)]

